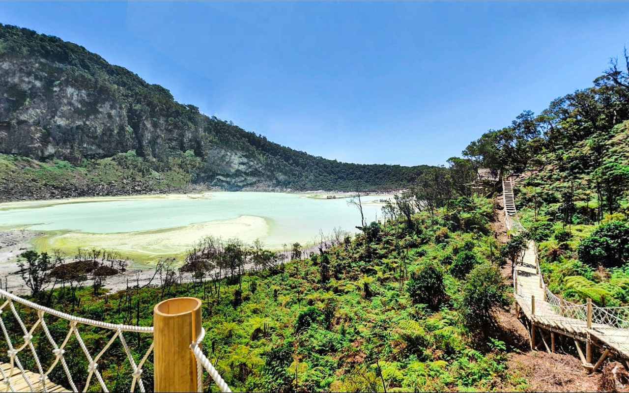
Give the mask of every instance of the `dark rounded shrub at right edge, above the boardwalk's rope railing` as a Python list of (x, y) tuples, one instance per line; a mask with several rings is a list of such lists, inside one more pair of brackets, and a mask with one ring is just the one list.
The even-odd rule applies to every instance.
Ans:
[(618, 267), (629, 262), (629, 224), (613, 221), (599, 226), (579, 244), (579, 259), (596, 267)]

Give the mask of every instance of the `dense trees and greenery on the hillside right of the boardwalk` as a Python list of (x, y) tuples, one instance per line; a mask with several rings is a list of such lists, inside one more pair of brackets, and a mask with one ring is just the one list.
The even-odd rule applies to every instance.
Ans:
[[(600, 305), (629, 303), (629, 57), (594, 86), (525, 111), (470, 143), (474, 165), (521, 174), (516, 204), (550, 289)], [(520, 241), (520, 240), (516, 240)], [(517, 247), (515, 247), (517, 249)]]

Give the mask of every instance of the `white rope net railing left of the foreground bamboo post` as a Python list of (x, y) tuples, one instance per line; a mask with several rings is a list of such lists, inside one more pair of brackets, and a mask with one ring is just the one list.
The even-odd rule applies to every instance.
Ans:
[[(125, 333), (152, 336), (152, 327), (111, 324), (72, 316), (3, 290), (0, 290), (0, 298), (4, 299), (0, 305), (0, 330), (8, 348), (5, 353), (9, 363), (7, 370), (0, 370), (4, 391), (14, 392), (15, 385), (24, 381), (29, 390), (47, 392), (54, 381), (70, 390), (85, 392), (96, 380), (104, 392), (109, 392), (103, 374), (110, 369), (101, 370), (99, 366), (104, 363), (101, 362), (104, 355), (111, 350), (116, 357), (124, 355), (131, 369), (131, 383), (125, 389), (145, 392), (142, 372), (153, 345), (148, 345), (142, 357), (134, 357)], [(18, 312), (16, 305), (22, 313)], [(95, 334), (99, 335), (97, 340), (93, 340)], [(104, 341), (96, 355), (87, 348), (87, 336), (90, 341)], [(133, 341), (138, 340), (133, 338)], [(73, 374), (77, 374), (81, 365), (87, 367), (82, 370), (79, 379)], [(38, 373), (39, 380), (33, 380), (29, 371)], [(21, 378), (16, 379), (15, 374), (21, 375)]]

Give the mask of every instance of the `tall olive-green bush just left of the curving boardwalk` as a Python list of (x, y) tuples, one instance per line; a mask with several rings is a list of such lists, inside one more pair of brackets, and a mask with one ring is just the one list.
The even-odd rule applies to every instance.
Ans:
[(508, 286), (500, 269), (489, 263), (477, 265), (465, 280), (461, 311), (468, 323), (486, 326), (493, 319), (495, 307), (509, 304)]

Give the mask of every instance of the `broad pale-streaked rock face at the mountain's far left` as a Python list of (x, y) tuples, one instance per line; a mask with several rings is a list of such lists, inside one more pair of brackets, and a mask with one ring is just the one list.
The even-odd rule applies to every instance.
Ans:
[(0, 69), (3, 152), (78, 162), (135, 148), (128, 105), (93, 80), (41, 58), (5, 57)]

